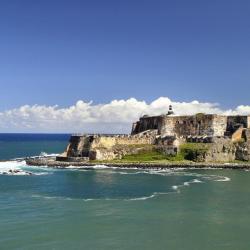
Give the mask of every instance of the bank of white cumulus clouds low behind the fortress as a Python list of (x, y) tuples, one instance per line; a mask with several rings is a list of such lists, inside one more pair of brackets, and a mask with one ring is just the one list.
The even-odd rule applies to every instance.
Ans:
[(131, 123), (144, 114), (160, 115), (172, 104), (177, 115), (199, 112), (209, 114), (250, 114), (250, 106), (238, 106), (234, 110), (222, 110), (216, 103), (199, 101), (175, 102), (160, 97), (151, 103), (135, 98), (113, 100), (107, 104), (78, 101), (75, 105), (59, 106), (24, 105), (0, 112), (2, 132), (86, 132), (127, 133)]

